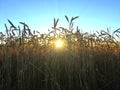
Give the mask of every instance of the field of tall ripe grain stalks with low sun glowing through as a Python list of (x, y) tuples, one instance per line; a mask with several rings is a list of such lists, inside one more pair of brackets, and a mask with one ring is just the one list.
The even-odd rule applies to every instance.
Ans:
[(0, 90), (120, 89), (120, 28), (83, 33), (74, 27), (78, 16), (65, 18), (68, 28), (54, 19), (47, 34), (8, 20), (0, 32)]

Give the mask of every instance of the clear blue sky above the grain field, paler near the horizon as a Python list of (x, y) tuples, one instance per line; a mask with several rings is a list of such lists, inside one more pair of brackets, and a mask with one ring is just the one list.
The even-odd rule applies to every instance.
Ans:
[(5, 30), (4, 23), (9, 26), (7, 19), (16, 26), (21, 21), (32, 30), (47, 32), (54, 18), (66, 27), (65, 15), (79, 16), (75, 26), (83, 32), (115, 30), (120, 28), (120, 0), (0, 0), (0, 32)]

